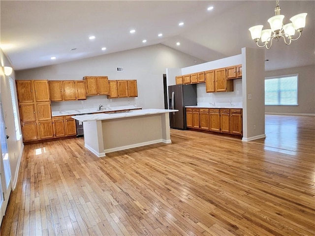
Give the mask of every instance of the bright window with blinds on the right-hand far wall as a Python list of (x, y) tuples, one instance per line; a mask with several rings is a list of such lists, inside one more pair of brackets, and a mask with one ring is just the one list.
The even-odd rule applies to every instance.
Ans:
[(298, 75), (265, 78), (265, 105), (298, 105)]

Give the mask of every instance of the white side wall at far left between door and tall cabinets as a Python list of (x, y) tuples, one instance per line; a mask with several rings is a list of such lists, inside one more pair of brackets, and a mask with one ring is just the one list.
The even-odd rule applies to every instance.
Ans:
[[(1, 49), (0, 49), (0, 57), (1, 57), (1, 65), (11, 66), (9, 60), (4, 56)], [(22, 138), (20, 140), (16, 140), (9, 77), (4, 75), (2, 71), (2, 66), (0, 68), (1, 68), (0, 69), (0, 90), (1, 90), (3, 116), (4, 116), (5, 127), (6, 127), (6, 135), (10, 137), (9, 139), (7, 139), (7, 145), (8, 145), (8, 152), (9, 152), (10, 168), (11, 168), (11, 184), (12, 184), (12, 187), (15, 188), (15, 184), (18, 177), (18, 171), (19, 171), (18, 168), (20, 165), (20, 158), (22, 156), (24, 146), (23, 146)], [(12, 72), (10, 77), (12, 79), (15, 79), (14, 71)]]

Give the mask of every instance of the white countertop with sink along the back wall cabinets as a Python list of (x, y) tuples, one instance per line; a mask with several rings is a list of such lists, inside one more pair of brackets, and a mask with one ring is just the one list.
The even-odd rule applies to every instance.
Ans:
[(114, 112), (114, 111), (131, 110), (131, 109), (141, 109), (141, 107), (135, 107), (134, 105), (127, 105), (127, 106), (119, 106), (119, 107), (104, 107), (100, 111), (98, 111), (98, 107), (77, 109), (77, 110), (67, 110), (67, 111), (55, 111), (55, 112), (52, 112), (52, 116), (53, 117), (70, 116), (70, 115), (79, 115), (79, 114), (86, 114), (86, 113)]

